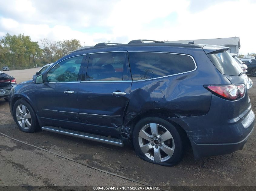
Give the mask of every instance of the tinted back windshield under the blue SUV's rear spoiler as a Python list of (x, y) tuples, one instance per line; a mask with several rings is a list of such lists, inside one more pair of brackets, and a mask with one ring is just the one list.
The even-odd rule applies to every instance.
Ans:
[(228, 52), (207, 54), (214, 66), (224, 75), (238, 76), (243, 70)]

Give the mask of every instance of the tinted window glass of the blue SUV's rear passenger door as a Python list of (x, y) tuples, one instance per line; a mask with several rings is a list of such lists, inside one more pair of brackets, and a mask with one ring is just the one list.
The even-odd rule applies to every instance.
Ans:
[(123, 80), (124, 66), (125, 57), (123, 52), (91, 54), (86, 73), (86, 81)]

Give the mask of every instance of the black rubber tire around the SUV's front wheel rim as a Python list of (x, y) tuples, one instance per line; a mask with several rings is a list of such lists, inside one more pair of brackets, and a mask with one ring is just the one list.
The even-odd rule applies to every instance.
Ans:
[[(18, 121), (18, 119), (16, 117), (16, 109), (17, 109), (17, 107), (20, 107), (20, 105), (23, 105), (23, 106), (26, 107), (26, 110), (25, 110), (24, 113), (27, 113), (27, 114), (30, 113), (30, 116), (31, 116), (30, 120), (29, 120), (29, 118), (20, 117), (22, 119), (20, 121)], [(33, 133), (33, 132), (35, 132), (35, 131), (37, 131), (39, 129), (38, 120), (37, 120), (37, 117), (35, 115), (35, 111), (33, 110), (31, 105), (26, 100), (19, 99), (19, 100), (17, 100), (14, 103), (14, 106), (13, 106), (13, 116), (14, 116), (14, 120), (15, 120), (17, 126), (23, 132)], [(22, 114), (21, 114), (21, 116), (22, 116)], [(22, 125), (20, 124), (20, 123), (22, 123), (23, 120), (28, 120), (28, 124), (30, 123), (31, 125), (28, 127), (27, 123), (25, 122), (25, 128), (23, 128)]]

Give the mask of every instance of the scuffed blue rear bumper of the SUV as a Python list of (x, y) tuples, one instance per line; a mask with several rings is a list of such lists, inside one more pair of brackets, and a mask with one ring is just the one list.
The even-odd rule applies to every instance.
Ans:
[[(244, 106), (248, 107), (244, 109)], [(213, 95), (208, 114), (168, 119), (186, 131), (195, 159), (242, 149), (255, 123), (255, 115), (251, 110), (247, 93), (235, 101)]]

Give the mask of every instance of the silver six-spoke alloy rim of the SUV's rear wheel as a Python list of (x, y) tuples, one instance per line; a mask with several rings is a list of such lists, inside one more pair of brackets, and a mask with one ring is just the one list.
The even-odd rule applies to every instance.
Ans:
[(138, 139), (141, 151), (152, 161), (167, 161), (174, 153), (171, 133), (159, 124), (149, 123), (142, 127)]

